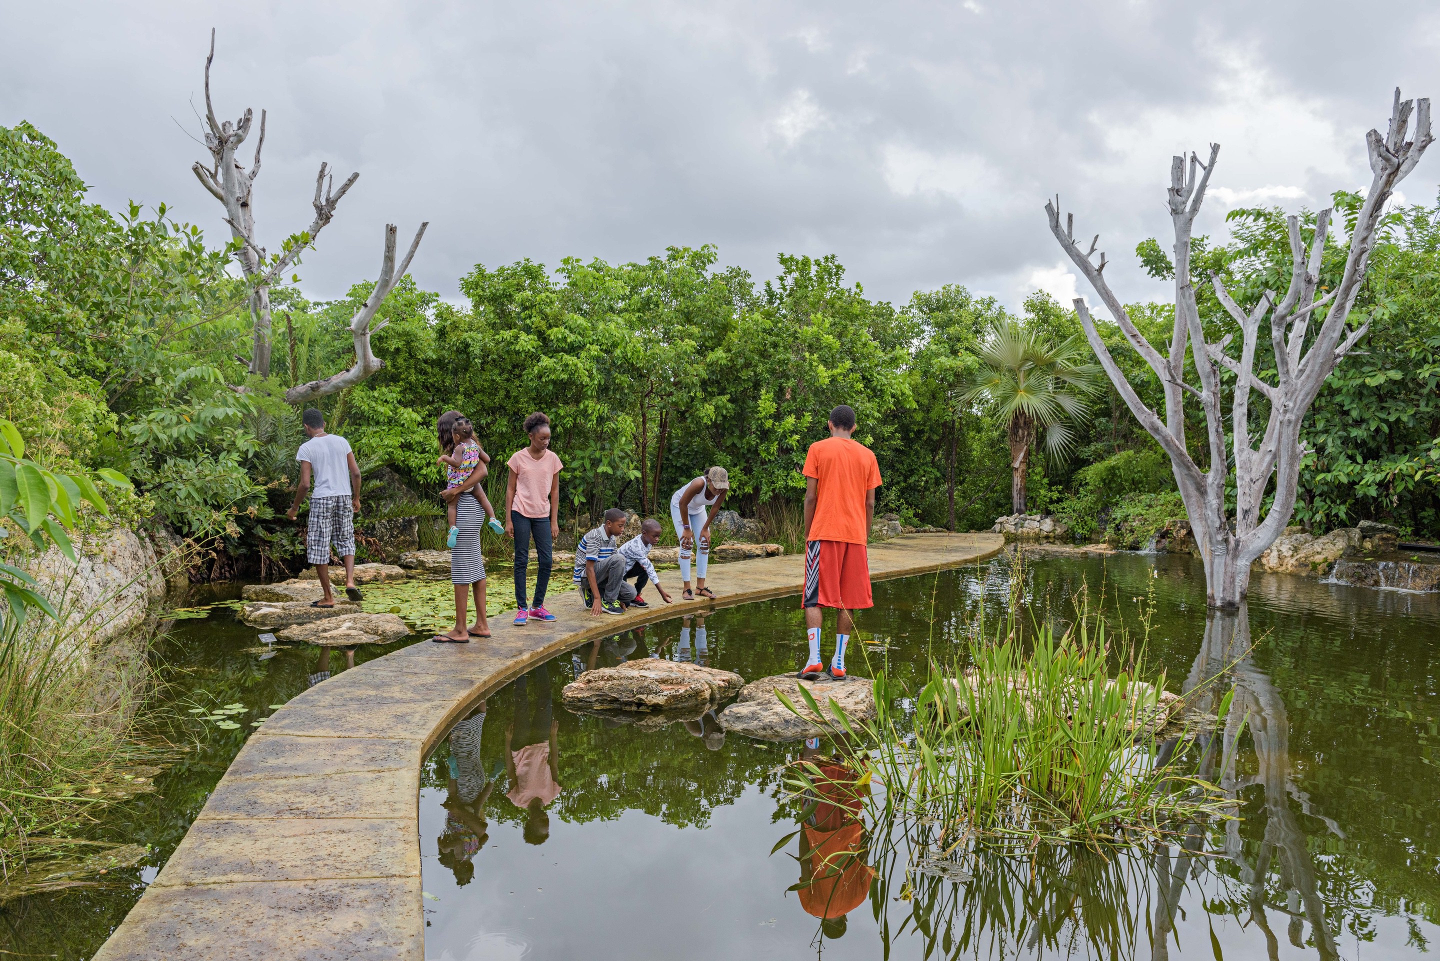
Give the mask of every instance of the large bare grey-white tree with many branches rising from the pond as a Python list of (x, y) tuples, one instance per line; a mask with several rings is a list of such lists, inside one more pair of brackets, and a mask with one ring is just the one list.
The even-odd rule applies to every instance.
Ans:
[[(1416, 115), (1414, 140), (1405, 140), (1410, 115)], [(1361, 281), (1371, 248), (1375, 243), (1375, 228), (1384, 213), (1385, 203), (1405, 174), (1414, 170), (1420, 156), (1430, 146), (1430, 101), (1395, 101), (1390, 115), (1390, 130), (1381, 137), (1371, 130), (1367, 137), (1369, 147), (1369, 169), (1374, 179), (1355, 228), (1349, 238), (1349, 254), (1339, 284), (1316, 298), (1319, 287), (1320, 259), (1331, 228), (1331, 210), (1322, 210), (1316, 218), (1315, 233), (1309, 249), (1300, 235), (1297, 218), (1289, 218), (1292, 274), (1290, 287), (1283, 298), (1266, 291), (1248, 310), (1230, 297), (1218, 278), (1211, 278), (1220, 303), (1240, 328), (1240, 357), (1225, 353), (1233, 334), (1220, 343), (1205, 343), (1200, 310), (1195, 303), (1195, 288), (1189, 272), (1191, 229), (1195, 215), (1205, 199), (1205, 187), (1215, 169), (1220, 146), (1210, 146), (1210, 161), (1201, 163), (1195, 154), (1189, 157), (1189, 171), (1185, 157), (1171, 161), (1169, 210), (1175, 229), (1175, 327), (1171, 334), (1169, 356), (1162, 356), (1130, 321), (1125, 305), (1106, 284), (1103, 271), (1104, 254), (1093, 264), (1099, 235), (1083, 251), (1074, 241), (1074, 215), (1060, 223), (1060, 199), (1045, 203), (1050, 216), (1050, 231), (1060, 246), (1094, 287), (1100, 301), (1119, 324), (1125, 339), (1145, 359), (1165, 390), (1165, 419), (1148, 408), (1125, 379), (1104, 341), (1100, 340), (1096, 321), (1084, 300), (1074, 301), (1080, 323), (1084, 326), (1090, 347), (1110, 376), (1126, 406), (1169, 454), (1189, 516), (1191, 529), (1205, 562), (1207, 601), (1212, 607), (1234, 608), (1250, 588), (1250, 565), (1274, 543), (1295, 511), (1296, 487), (1300, 475), (1300, 461), (1305, 450), (1300, 442), (1300, 424), (1306, 411), (1315, 402), (1325, 377), (1335, 365), (1349, 353), (1365, 336), (1369, 324), (1361, 324), (1348, 331), (1346, 320)], [(1256, 349), (1260, 327), (1269, 316), (1270, 344), (1274, 352), (1277, 383), (1267, 383), (1254, 373)], [(1323, 317), (1318, 327), (1313, 317)], [(1313, 333), (1312, 333), (1313, 330)], [(1185, 353), (1189, 344), (1202, 346), (1191, 350), (1200, 386), (1185, 382)], [(1221, 399), (1220, 367), (1234, 373), (1231, 390), (1231, 438), (1234, 448), (1236, 504), (1231, 510), (1225, 500), (1225, 486), (1231, 461), (1227, 451), (1225, 415)], [(1259, 392), (1270, 408), (1269, 421), (1259, 447), (1251, 442), (1251, 390)], [(1205, 414), (1208, 470), (1191, 458), (1185, 445), (1185, 395), (1200, 401)], [(1266, 491), (1274, 478), (1274, 496), (1270, 509), (1261, 517)]]

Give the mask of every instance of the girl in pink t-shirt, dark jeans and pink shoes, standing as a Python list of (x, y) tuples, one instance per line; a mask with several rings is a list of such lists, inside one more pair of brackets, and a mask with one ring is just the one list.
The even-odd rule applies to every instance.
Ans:
[[(516, 624), (530, 618), (553, 621), (544, 608), (550, 586), (550, 560), (554, 539), (560, 536), (560, 470), (564, 464), (550, 450), (550, 418), (531, 414), (526, 418), (530, 447), (510, 455), (510, 480), (505, 483), (505, 536), (516, 539)], [(526, 599), (526, 565), (530, 563), (530, 537), (536, 539), (540, 569), (536, 572), (534, 605)]]

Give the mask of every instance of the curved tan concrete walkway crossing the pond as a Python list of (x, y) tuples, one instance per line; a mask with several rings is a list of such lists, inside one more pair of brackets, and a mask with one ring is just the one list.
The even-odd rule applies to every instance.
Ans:
[[(901, 536), (870, 546), (871, 576), (956, 568), (1001, 546), (991, 533)], [(566, 594), (550, 624), (415, 644), (311, 687), (251, 735), (96, 961), (422, 960), (420, 765), (452, 723), (582, 641), (799, 594), (804, 581), (802, 556), (717, 565), (716, 601), (593, 620)]]

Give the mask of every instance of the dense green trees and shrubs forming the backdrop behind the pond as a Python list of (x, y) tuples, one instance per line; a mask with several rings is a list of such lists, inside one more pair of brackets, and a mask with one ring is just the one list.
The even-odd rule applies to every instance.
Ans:
[[(1352, 212), (1355, 197), (1338, 200)], [(1282, 213), (1234, 212), (1231, 232), (1225, 245), (1195, 241), (1198, 268), (1221, 274), (1241, 303), (1283, 288)], [(35, 458), (127, 474), (138, 496), (120, 499), (122, 516), (210, 539), (240, 565), (292, 556), (295, 529), (276, 509), (300, 437), (281, 393), (350, 363), (346, 324), (372, 285), (337, 301), (276, 288), (275, 375), (248, 377), (233, 251), (207, 246), (163, 206), (112, 213), (88, 203), (69, 161), (27, 124), (0, 131), (0, 415)], [(1341, 365), (1306, 422), (1303, 523), (1371, 517), (1440, 535), (1437, 246), (1440, 206), (1387, 222), (1355, 314), (1372, 324), (1364, 353)], [(1326, 277), (1342, 256), (1331, 248)], [(1153, 241), (1138, 255), (1156, 277), (1169, 269)], [(733, 506), (782, 516), (776, 507), (802, 490), (805, 448), (845, 402), (881, 462), (881, 511), (986, 527), (1009, 510), (1012, 461), (1004, 405), (966, 398), (985, 367), (986, 334), (1018, 324), (1043, 344), (1080, 336), (1073, 311), (1045, 294), (1011, 313), (948, 285), (897, 307), (868, 298), (834, 256), (780, 255), (778, 275), (757, 281), (720, 268), (711, 246), (632, 264), (477, 265), (459, 294), (442, 300), (406, 278), (380, 311), (389, 326), (374, 350), (384, 369), (325, 398), (330, 422), (366, 471), (389, 465), (428, 499), (441, 483), (435, 416), (464, 411), (498, 458), (487, 481), (494, 499), (504, 458), (523, 444), (521, 419), (544, 411), (567, 464), (566, 523), (616, 503), (660, 513), (671, 490), (717, 462), (730, 470)], [(1204, 290), (1201, 310), (1215, 339), (1228, 330)], [(1168, 305), (1132, 314), (1152, 340), (1168, 340)], [(1159, 405), (1159, 383), (1117, 328), (1102, 336), (1140, 396)], [(1074, 363), (1090, 363), (1087, 349)], [(1172, 506), (1165, 458), (1109, 385), (1089, 408), (1089, 419), (1066, 418), (1064, 462), (1024, 438), (1028, 509), (1058, 513), (1079, 536), (1104, 535), (1112, 517), (1153, 522)], [(1261, 402), (1251, 409), (1257, 424), (1267, 415)], [(1204, 462), (1200, 428), (1189, 437)], [(1130, 540), (1129, 527), (1113, 535)]]

